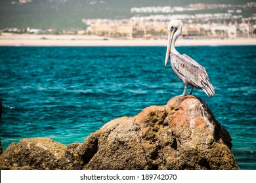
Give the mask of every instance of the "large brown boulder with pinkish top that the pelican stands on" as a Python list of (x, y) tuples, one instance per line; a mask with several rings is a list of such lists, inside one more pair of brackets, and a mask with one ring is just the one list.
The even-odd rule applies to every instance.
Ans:
[(85, 169), (238, 169), (229, 133), (194, 96), (112, 120), (88, 144), (96, 148)]

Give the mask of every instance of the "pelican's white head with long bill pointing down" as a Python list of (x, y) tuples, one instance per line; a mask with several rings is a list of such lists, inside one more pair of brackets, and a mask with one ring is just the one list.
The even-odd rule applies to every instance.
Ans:
[[(168, 44), (167, 44), (167, 51), (165, 56), (165, 65), (167, 65), (168, 63), (168, 59), (171, 51), (171, 44), (174, 44), (174, 42), (179, 37), (179, 35), (181, 35), (182, 25), (183, 23), (181, 20), (171, 20), (168, 24)], [(174, 42), (173, 42), (173, 37), (175, 37)]]

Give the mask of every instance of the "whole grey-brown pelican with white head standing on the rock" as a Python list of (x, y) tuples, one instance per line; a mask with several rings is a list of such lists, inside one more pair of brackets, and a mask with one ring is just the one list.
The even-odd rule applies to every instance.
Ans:
[(210, 83), (205, 68), (186, 54), (179, 54), (175, 49), (175, 41), (179, 35), (181, 35), (182, 25), (183, 23), (181, 20), (171, 20), (168, 24), (168, 44), (165, 56), (165, 66), (170, 59), (171, 68), (185, 85), (182, 96), (186, 95), (186, 90), (188, 89), (188, 85), (190, 85), (190, 95), (192, 95), (193, 89), (196, 87), (202, 89), (206, 95), (211, 97), (215, 94), (215, 90)]

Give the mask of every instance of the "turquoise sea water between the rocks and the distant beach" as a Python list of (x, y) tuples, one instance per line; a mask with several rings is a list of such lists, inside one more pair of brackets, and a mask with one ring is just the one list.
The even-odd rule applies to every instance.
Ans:
[[(83, 142), (106, 122), (183, 92), (165, 47), (0, 47), (3, 148), (21, 138)], [(256, 169), (256, 46), (182, 46), (205, 66), (209, 105), (232, 136), (241, 169)]]

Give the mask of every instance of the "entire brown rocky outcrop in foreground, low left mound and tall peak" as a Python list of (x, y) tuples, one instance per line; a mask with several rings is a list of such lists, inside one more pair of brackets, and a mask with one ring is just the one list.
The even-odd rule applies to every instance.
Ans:
[(202, 99), (188, 95), (112, 120), (83, 144), (22, 139), (0, 163), (1, 169), (239, 169), (231, 146)]

